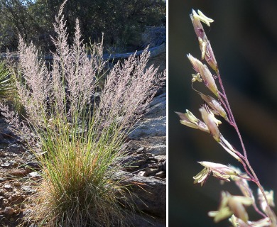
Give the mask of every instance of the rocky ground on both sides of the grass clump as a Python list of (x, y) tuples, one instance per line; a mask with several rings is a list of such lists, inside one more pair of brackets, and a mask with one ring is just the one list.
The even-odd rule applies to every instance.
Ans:
[[(165, 226), (166, 145), (165, 87), (160, 89), (130, 140), (125, 144), (127, 160), (136, 167), (119, 172), (138, 195), (136, 206), (143, 211), (133, 218), (134, 226)], [(0, 118), (0, 226), (18, 226), (34, 204), (29, 199), (40, 183), (40, 169), (34, 155), (23, 148)]]

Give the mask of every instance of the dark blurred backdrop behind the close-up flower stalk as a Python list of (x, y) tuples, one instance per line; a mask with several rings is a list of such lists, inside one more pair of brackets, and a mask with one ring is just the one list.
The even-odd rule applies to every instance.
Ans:
[[(249, 161), (266, 190), (277, 192), (277, 1), (169, 2), (169, 226), (231, 226), (214, 224), (208, 211), (217, 210), (220, 193), (240, 194), (233, 183), (210, 177), (204, 187), (192, 177), (202, 170), (197, 161), (239, 163), (229, 157), (207, 133), (179, 123), (174, 111), (189, 109), (195, 116), (202, 100), (191, 89), (194, 73), (186, 54), (200, 58), (200, 48), (189, 14), (200, 9), (213, 18), (204, 25), (219, 65), (233, 114), (244, 138)], [(195, 88), (210, 94), (201, 84)], [(227, 123), (220, 131), (237, 150), (241, 145)], [(256, 194), (256, 186), (250, 184)], [(248, 209), (251, 220), (261, 218)]]

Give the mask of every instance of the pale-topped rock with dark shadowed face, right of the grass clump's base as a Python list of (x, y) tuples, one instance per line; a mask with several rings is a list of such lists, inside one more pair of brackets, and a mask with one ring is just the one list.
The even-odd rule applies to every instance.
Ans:
[(136, 207), (147, 214), (166, 217), (166, 181), (158, 177), (143, 177), (120, 171), (115, 179), (121, 184), (131, 185), (132, 197)]

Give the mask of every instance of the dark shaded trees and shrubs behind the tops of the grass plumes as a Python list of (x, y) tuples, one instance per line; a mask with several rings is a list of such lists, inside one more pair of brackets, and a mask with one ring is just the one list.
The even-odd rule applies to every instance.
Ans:
[[(49, 35), (63, 0), (0, 0), (0, 50), (16, 50), (18, 33), (24, 42), (33, 41), (40, 49), (53, 50)], [(64, 10), (69, 36), (79, 18), (85, 40), (98, 41), (104, 33), (109, 46), (141, 45), (146, 26), (165, 26), (163, 0), (70, 0)], [(72, 42), (72, 40), (71, 40)]]

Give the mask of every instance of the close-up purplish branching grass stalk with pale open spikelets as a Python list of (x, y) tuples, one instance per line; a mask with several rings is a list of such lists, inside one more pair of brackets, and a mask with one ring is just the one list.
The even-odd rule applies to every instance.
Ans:
[[(204, 82), (205, 87), (212, 92), (215, 98), (202, 94), (195, 89), (195, 91), (198, 92), (201, 98), (205, 101), (205, 104), (203, 104), (200, 108), (202, 121), (187, 110), (185, 114), (177, 112), (180, 116), (180, 123), (185, 126), (197, 128), (200, 129), (200, 131), (210, 133), (214, 140), (216, 140), (217, 143), (219, 143), (219, 145), (221, 145), (222, 148), (229, 153), (229, 155), (232, 155), (232, 157), (241, 163), (245, 171), (241, 172), (241, 170), (236, 167), (214, 162), (199, 162), (205, 168), (193, 177), (195, 179), (194, 183), (200, 183), (202, 186), (212, 173), (214, 177), (217, 177), (220, 180), (227, 182), (230, 180), (234, 181), (235, 184), (237, 184), (237, 187), (241, 190), (243, 196), (233, 196), (229, 192), (222, 192), (219, 210), (209, 212), (209, 216), (213, 217), (215, 222), (231, 216), (229, 221), (233, 224), (233, 226), (277, 226), (276, 214), (274, 214), (271, 209), (271, 206), (275, 206), (273, 202), (273, 191), (267, 192), (264, 190), (259, 182), (259, 178), (256, 176), (256, 173), (249, 163), (246, 148), (241, 138), (241, 133), (239, 132), (239, 128), (234, 119), (234, 115), (222, 83), (222, 77), (219, 73), (217, 60), (214, 57), (210, 40), (207, 39), (206, 33), (202, 26), (202, 23), (205, 23), (210, 27), (210, 23), (212, 23), (213, 20), (205, 16), (199, 10), (197, 13), (192, 10), (190, 18), (200, 45), (201, 60), (205, 60), (207, 65), (209, 65), (215, 72), (213, 75), (207, 65), (188, 54), (188, 59), (196, 72), (195, 74), (192, 74), (192, 83)], [(219, 84), (219, 88), (217, 87), (216, 80)], [(215, 115), (224, 118), (224, 120), (235, 129), (241, 143), (242, 153), (239, 152), (239, 150), (236, 150), (219, 131), (219, 124), (222, 122), (219, 121)], [(254, 182), (258, 187), (258, 200), (261, 210), (256, 205), (256, 199), (248, 184), (249, 181)], [(245, 206), (253, 206), (255, 211), (258, 214), (261, 214), (263, 218), (259, 221), (249, 221), (249, 216)]]

